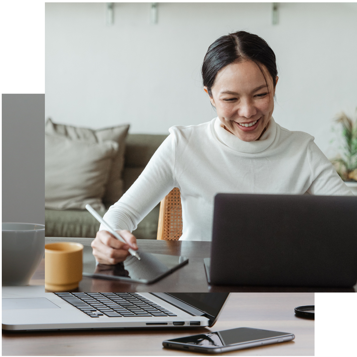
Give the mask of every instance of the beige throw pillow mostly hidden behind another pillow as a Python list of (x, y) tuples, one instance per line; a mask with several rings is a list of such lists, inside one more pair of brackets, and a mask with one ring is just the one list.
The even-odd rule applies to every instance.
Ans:
[(118, 143), (118, 151), (113, 160), (102, 201), (106, 206), (117, 202), (123, 194), (122, 171), (124, 167), (125, 139), (129, 130), (129, 124), (112, 128), (92, 130), (70, 125), (55, 124), (48, 119), (45, 132), (49, 135), (61, 135), (70, 140), (88, 141), (92, 143), (112, 140)]

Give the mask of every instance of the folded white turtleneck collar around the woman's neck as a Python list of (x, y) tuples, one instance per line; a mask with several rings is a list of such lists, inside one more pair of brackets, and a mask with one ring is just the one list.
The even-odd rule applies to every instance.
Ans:
[(276, 122), (273, 117), (271, 117), (268, 122), (268, 127), (259, 140), (243, 141), (227, 131), (218, 117), (213, 119), (212, 123), (216, 137), (222, 144), (244, 154), (257, 154), (258, 152), (266, 150), (273, 143), (277, 130)]

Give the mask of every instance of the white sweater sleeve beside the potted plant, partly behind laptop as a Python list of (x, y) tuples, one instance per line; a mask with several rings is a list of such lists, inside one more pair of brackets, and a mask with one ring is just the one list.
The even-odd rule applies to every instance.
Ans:
[(353, 196), (331, 162), (313, 141), (308, 145), (308, 160), (313, 182), (307, 191), (311, 195)]

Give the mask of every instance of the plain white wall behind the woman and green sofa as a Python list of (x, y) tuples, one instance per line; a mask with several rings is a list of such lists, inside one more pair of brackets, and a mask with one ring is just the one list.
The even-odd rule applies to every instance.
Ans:
[(113, 26), (104, 2), (46, 2), (45, 15), (45, 116), (57, 122), (160, 134), (211, 120), (200, 67), (236, 30), (277, 56), (276, 121), (315, 136), (328, 156), (333, 117), (357, 105), (356, 2), (280, 2), (278, 25), (271, 2), (159, 2), (157, 25), (149, 2), (115, 2)]

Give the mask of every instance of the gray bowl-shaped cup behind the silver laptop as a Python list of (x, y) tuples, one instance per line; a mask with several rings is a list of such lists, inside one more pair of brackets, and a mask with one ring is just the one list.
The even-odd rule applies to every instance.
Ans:
[(44, 252), (44, 225), (1, 223), (1, 285), (29, 285)]

